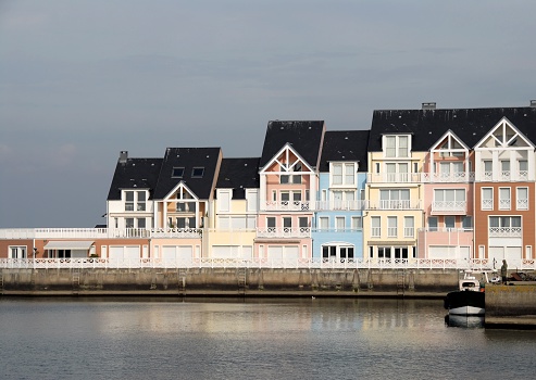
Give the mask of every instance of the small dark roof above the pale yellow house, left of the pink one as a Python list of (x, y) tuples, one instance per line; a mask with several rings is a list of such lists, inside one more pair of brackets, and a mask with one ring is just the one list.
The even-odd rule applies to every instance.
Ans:
[(216, 188), (233, 189), (233, 199), (246, 199), (246, 189), (259, 189), (261, 159), (223, 159)]

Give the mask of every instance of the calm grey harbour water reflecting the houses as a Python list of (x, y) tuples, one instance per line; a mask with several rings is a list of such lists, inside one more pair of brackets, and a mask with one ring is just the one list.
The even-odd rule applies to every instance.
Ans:
[(534, 379), (536, 331), (441, 301), (0, 300), (5, 379)]

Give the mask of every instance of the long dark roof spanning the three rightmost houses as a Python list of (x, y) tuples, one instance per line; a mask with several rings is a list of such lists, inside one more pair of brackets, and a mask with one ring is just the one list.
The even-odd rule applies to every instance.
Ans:
[(449, 129), (472, 149), (502, 117), (536, 142), (536, 107), (378, 110), (372, 117), (369, 151), (382, 151), (382, 135), (408, 132), (413, 151), (428, 151)]

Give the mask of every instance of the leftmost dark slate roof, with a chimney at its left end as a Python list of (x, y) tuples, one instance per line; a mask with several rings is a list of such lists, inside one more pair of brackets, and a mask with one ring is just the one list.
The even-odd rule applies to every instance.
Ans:
[(125, 163), (117, 161), (108, 200), (121, 200), (121, 189), (134, 188), (149, 189), (149, 199), (152, 199), (161, 165), (162, 159), (126, 159)]

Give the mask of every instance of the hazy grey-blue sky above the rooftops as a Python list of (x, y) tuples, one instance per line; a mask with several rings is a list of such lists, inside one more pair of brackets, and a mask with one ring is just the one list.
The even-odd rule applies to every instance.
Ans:
[(534, 0), (1, 0), (0, 228), (95, 227), (120, 151), (260, 156), (269, 121), (527, 106)]

